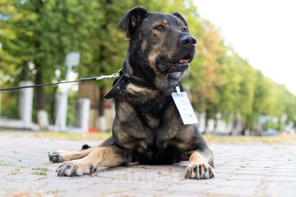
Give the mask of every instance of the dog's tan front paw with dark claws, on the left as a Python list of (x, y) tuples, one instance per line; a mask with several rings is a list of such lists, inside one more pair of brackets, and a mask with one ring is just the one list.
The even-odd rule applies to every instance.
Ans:
[(66, 161), (56, 169), (58, 176), (82, 176), (91, 174), (96, 169), (83, 159)]

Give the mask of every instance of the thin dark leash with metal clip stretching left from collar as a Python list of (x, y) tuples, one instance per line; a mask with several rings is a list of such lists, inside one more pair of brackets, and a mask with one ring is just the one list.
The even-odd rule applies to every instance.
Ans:
[(62, 81), (58, 83), (50, 83), (50, 84), (37, 84), (37, 85), (32, 85), (32, 86), (21, 86), (21, 87), (10, 87), (10, 88), (2, 88), (0, 91), (4, 90), (18, 90), (18, 89), (23, 89), (23, 88), (29, 88), (29, 87), (41, 87), (41, 86), (49, 86), (49, 85), (58, 85), (58, 84), (65, 84), (65, 83), (73, 83), (73, 82), (83, 82), (83, 81), (95, 81), (95, 80), (102, 80), (102, 79), (112, 79), (114, 77), (119, 77), (119, 72), (121, 69), (118, 71), (118, 73), (114, 73), (111, 75), (103, 75), (100, 77), (88, 77), (88, 78), (81, 78), (79, 80), (74, 80), (74, 81)]

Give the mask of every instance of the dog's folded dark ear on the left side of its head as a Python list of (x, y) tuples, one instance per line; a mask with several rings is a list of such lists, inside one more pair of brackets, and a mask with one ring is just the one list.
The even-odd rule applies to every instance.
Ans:
[(140, 21), (146, 15), (147, 10), (141, 7), (135, 7), (125, 13), (119, 21), (118, 26), (126, 32), (126, 38), (130, 38), (130, 34), (139, 25)]

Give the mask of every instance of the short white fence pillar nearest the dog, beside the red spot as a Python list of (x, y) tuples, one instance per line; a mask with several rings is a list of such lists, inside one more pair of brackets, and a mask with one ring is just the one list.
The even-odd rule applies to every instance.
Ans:
[(78, 99), (78, 127), (81, 128), (83, 133), (88, 133), (89, 130), (89, 112), (90, 112), (90, 99)]

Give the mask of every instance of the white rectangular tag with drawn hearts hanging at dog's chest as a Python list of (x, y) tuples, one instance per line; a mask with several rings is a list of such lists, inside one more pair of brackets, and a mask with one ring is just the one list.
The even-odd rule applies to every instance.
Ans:
[(180, 113), (180, 116), (183, 120), (183, 123), (184, 124), (198, 123), (194, 110), (191, 106), (191, 103), (187, 97), (186, 92), (181, 92), (181, 94), (178, 94), (177, 92), (172, 92), (172, 97)]

